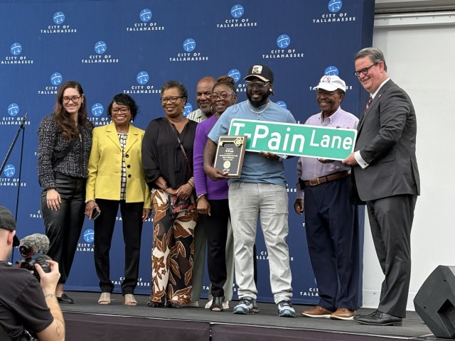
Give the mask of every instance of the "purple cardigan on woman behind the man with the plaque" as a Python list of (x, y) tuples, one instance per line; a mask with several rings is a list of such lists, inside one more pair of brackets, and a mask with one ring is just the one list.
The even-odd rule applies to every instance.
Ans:
[(208, 200), (228, 199), (228, 180), (213, 181), (204, 172), (203, 153), (207, 143), (207, 135), (216, 121), (218, 118), (213, 115), (198, 124), (193, 146), (193, 176), (196, 184), (196, 195), (206, 193)]

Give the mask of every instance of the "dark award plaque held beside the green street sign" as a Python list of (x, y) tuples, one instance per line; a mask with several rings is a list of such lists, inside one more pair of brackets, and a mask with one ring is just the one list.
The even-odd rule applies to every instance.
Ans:
[(247, 136), (220, 136), (215, 156), (215, 168), (228, 173), (230, 178), (240, 178)]

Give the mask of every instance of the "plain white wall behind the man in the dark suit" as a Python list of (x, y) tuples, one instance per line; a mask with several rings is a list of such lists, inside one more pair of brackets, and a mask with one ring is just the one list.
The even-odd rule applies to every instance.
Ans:
[[(441, 25), (439, 17), (434, 25), (414, 26), (412, 20), (418, 18), (387, 26), (376, 16), (373, 33), (388, 74), (410, 94), (417, 113), (422, 190), (412, 227), (407, 310), (414, 310), (415, 294), (437, 265), (455, 266), (455, 24), (449, 19)], [(366, 219), (363, 306), (377, 308), (383, 275)]]

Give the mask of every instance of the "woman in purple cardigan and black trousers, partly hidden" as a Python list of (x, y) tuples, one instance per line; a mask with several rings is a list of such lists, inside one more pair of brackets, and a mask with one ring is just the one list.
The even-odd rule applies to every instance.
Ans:
[(204, 173), (203, 152), (207, 135), (225, 109), (237, 102), (235, 82), (231, 77), (218, 78), (213, 87), (213, 116), (198, 124), (193, 148), (194, 182), (198, 195), (198, 212), (205, 216), (208, 248), (208, 276), (212, 284), (212, 311), (222, 311), (223, 285), (226, 281), (226, 239), (228, 237), (228, 180), (213, 181)]

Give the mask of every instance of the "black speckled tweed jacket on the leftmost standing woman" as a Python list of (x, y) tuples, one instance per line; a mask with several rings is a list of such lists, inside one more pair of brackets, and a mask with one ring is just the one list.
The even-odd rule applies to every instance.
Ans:
[(76, 138), (73, 148), (54, 169), (53, 156), (55, 153), (65, 150), (70, 141), (62, 135), (53, 114), (44, 117), (41, 121), (38, 129), (38, 180), (43, 190), (55, 188), (55, 172), (75, 178), (87, 178), (93, 130), (92, 122), (87, 122), (89, 128), (80, 126), (82, 143), (79, 138)]

